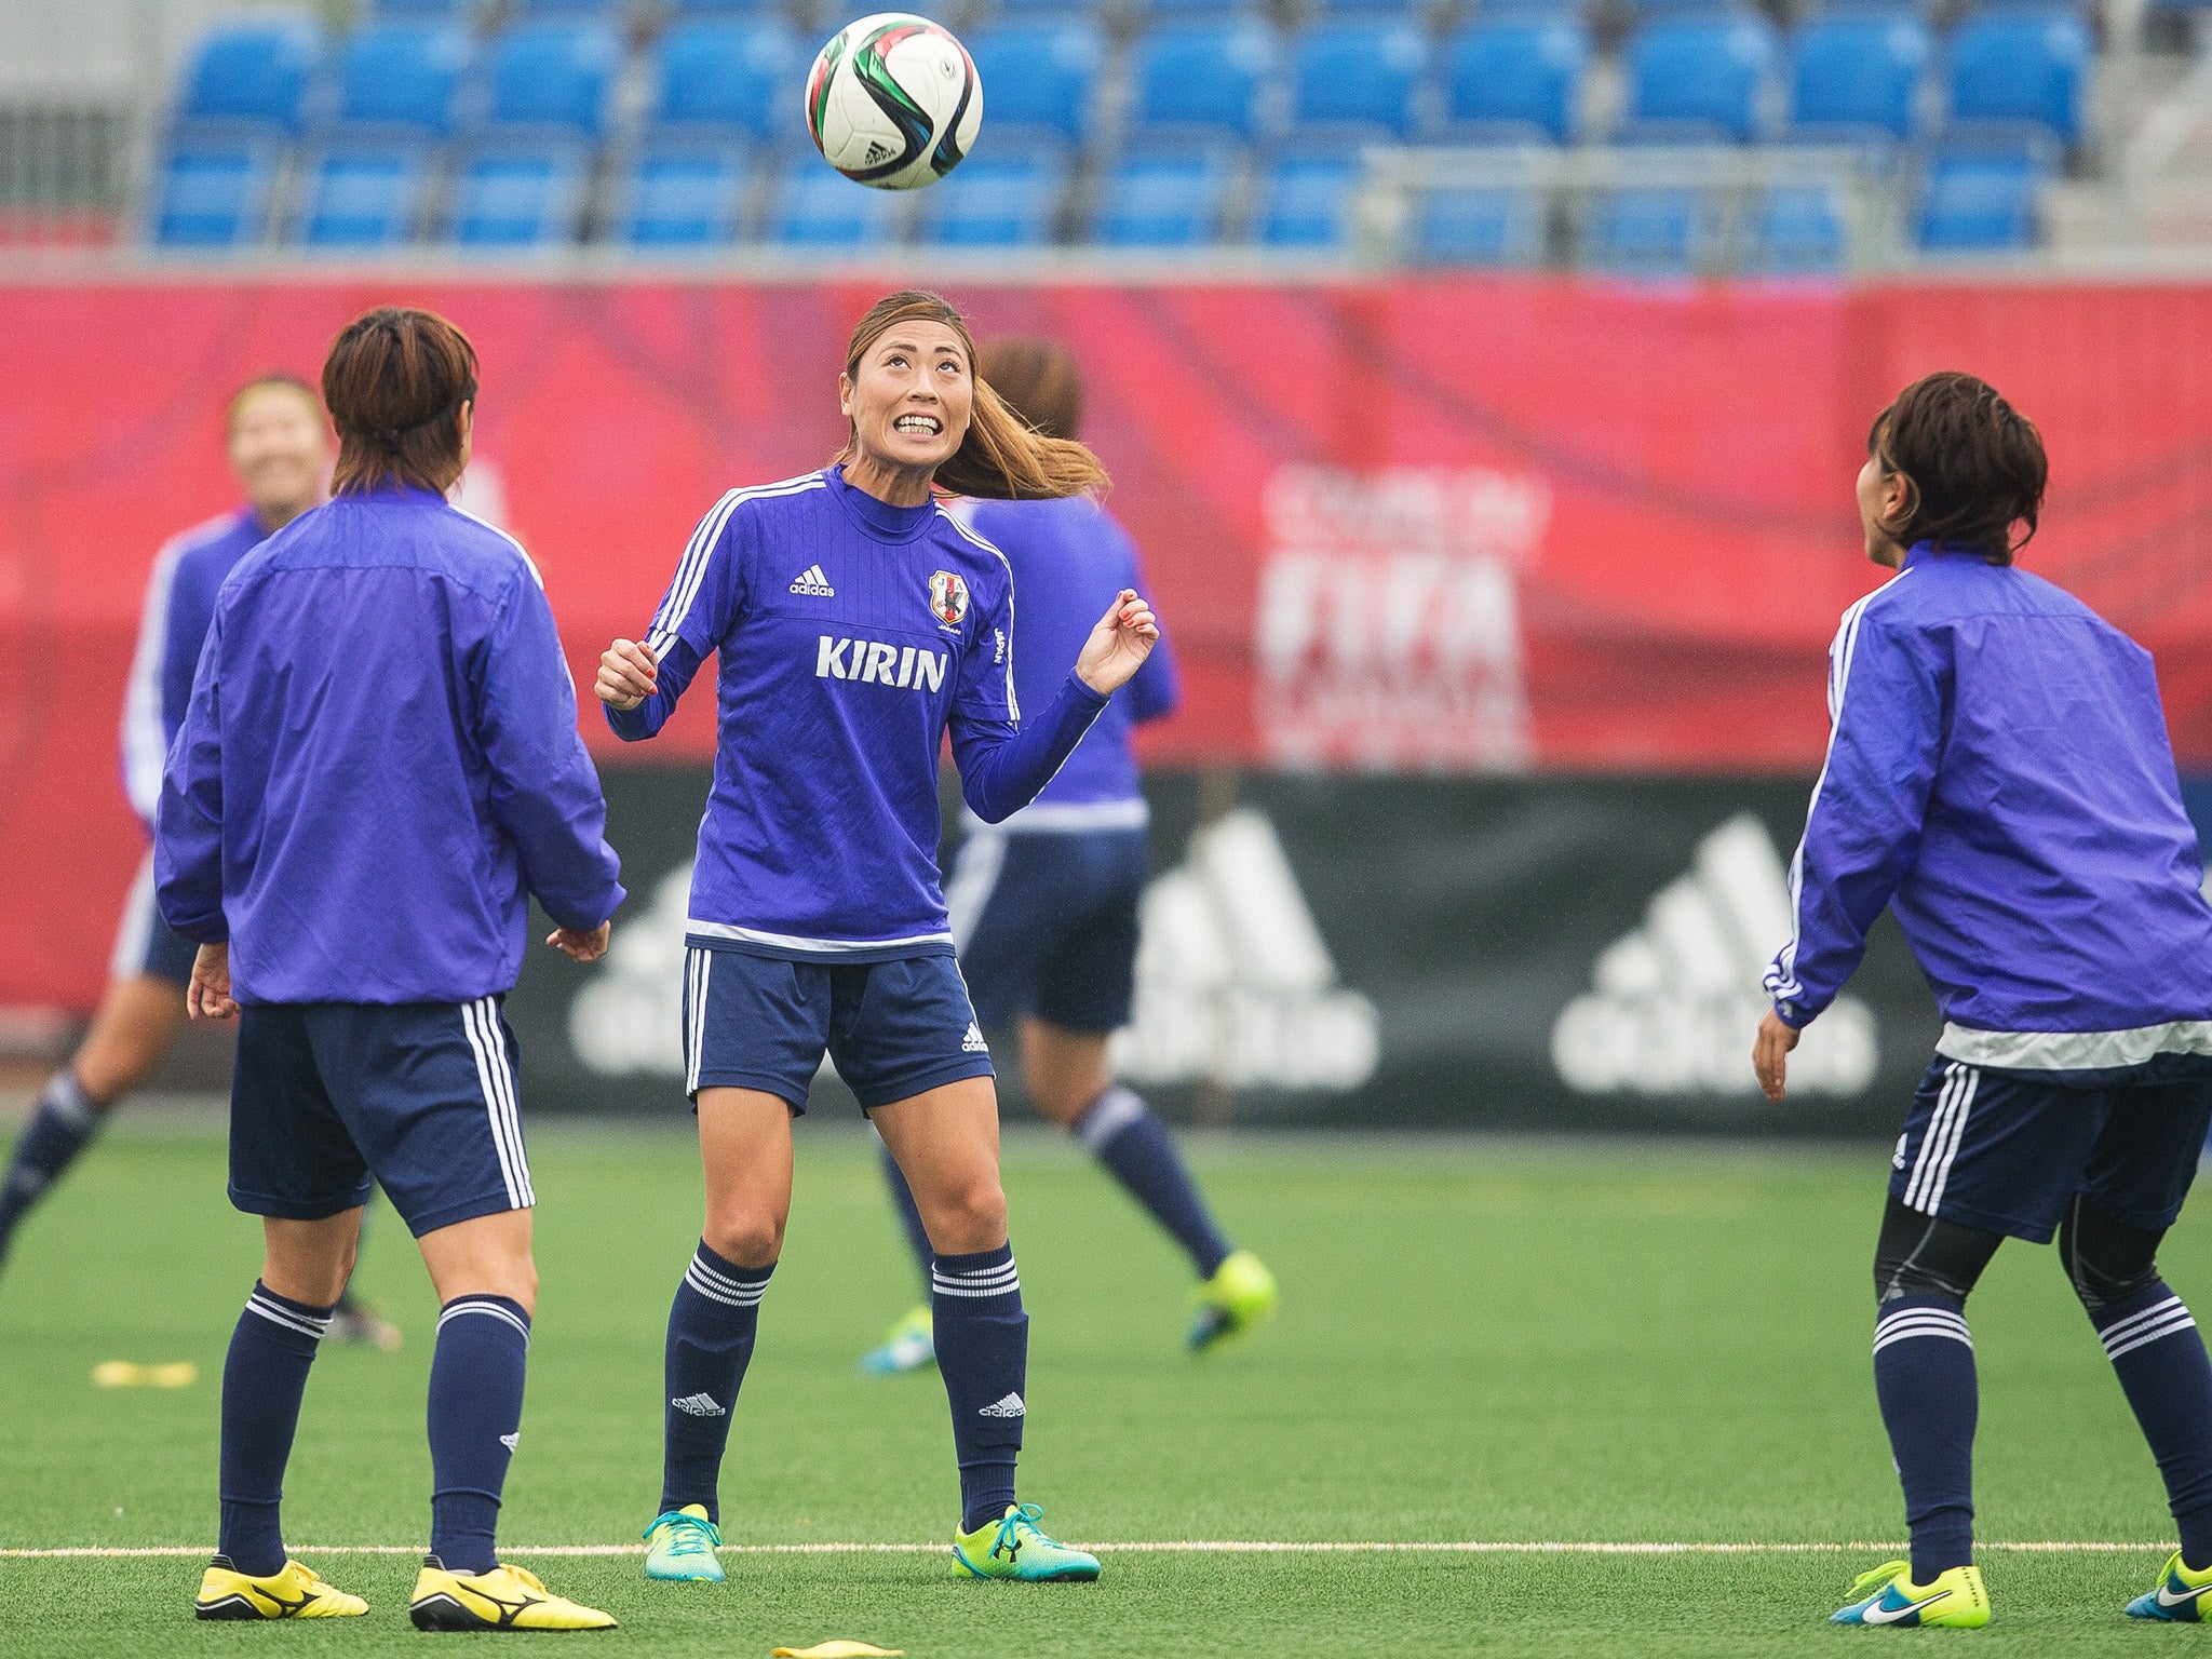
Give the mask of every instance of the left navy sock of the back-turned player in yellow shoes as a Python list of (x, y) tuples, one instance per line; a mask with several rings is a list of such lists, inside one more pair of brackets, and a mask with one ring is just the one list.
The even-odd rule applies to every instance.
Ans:
[(307, 1369), (330, 1329), (330, 1310), (296, 1303), (254, 1281), (223, 1360), (223, 1531), (217, 1546), (248, 1577), (283, 1571), (283, 1469), (299, 1429)]

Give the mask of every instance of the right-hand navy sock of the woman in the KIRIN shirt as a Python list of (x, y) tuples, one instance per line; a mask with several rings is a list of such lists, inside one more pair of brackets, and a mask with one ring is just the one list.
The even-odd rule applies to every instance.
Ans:
[(929, 1274), (938, 1371), (953, 1409), (960, 1458), (960, 1531), (973, 1533), (1013, 1502), (1029, 1405), (1029, 1314), (1013, 1245), (938, 1256)]

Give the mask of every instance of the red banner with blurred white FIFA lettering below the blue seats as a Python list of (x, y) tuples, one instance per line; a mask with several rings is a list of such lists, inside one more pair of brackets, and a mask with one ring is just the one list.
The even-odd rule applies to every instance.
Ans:
[[(818, 467), (880, 285), (462, 276), (0, 285), (0, 1004), (84, 1006), (142, 834), (115, 728), (155, 549), (232, 502), (223, 400), (374, 303), (482, 354), (478, 498), (544, 571), (580, 684), (730, 484)], [(1188, 666), (1175, 765), (1805, 772), (1874, 580), (1851, 478), (1936, 367), (2053, 451), (2026, 564), (2159, 653), (2212, 763), (2212, 288), (953, 283), (1068, 341), (1086, 438)], [(334, 619), (332, 626), (343, 626)], [(710, 699), (622, 759), (701, 759)], [(584, 728), (615, 745), (591, 708)]]

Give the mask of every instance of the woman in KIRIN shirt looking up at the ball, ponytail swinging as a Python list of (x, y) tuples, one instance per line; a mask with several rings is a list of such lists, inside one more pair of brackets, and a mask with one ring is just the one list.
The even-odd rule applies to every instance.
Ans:
[(854, 327), (838, 460), (732, 489), (699, 522), (641, 641), (599, 659), (624, 739), (653, 737), (719, 653), (714, 785), (686, 931), (684, 1066), (706, 1225), (668, 1316), (661, 1513), (646, 1575), (721, 1579), (717, 1475), (783, 1248), (792, 1119), (823, 1051), (898, 1159), (929, 1232), (938, 1365), (960, 1462), (962, 1575), (1093, 1579), (1097, 1557), (1018, 1504), (1029, 1316), (1006, 1241), (991, 1055), (938, 885), (947, 730), (969, 807), (998, 823), (1075, 750), (1159, 628), (1121, 591), (1053, 701), (1022, 719), (1013, 577), (936, 491), (1057, 498), (1106, 482), (1018, 420), (936, 294)]

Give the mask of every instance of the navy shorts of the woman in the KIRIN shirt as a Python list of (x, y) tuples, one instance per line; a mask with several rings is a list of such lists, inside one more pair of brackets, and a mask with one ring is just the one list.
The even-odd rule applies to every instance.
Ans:
[(949, 956), (830, 964), (697, 945), (686, 951), (688, 1095), (761, 1088), (803, 1113), (823, 1053), (863, 1110), (993, 1075)]

